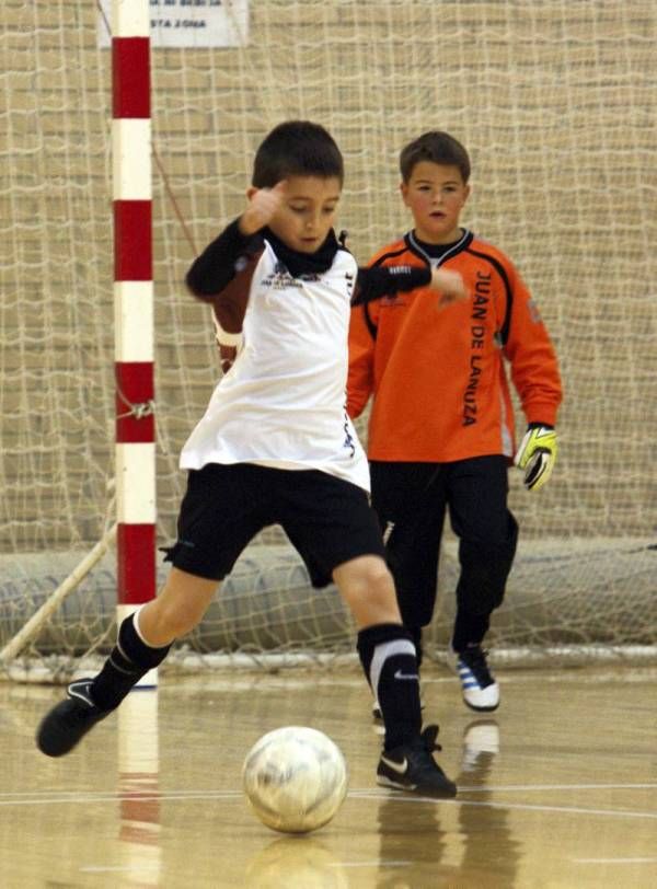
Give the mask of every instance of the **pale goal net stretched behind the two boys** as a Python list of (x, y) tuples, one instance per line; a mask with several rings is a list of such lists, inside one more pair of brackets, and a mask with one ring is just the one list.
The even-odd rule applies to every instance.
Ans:
[[(151, 7), (159, 18), (185, 14), (180, 2)], [(178, 452), (220, 376), (207, 309), (182, 280), (195, 252), (241, 211), (265, 131), (301, 117), (335, 135), (347, 171), (341, 226), (366, 262), (410, 224), (397, 195), (401, 147), (447, 129), (473, 161), (463, 222), (520, 268), (565, 384), (550, 485), (529, 495), (511, 472), (521, 541), (491, 645), (529, 657), (654, 656), (655, 3), (224, 7), (241, 45), (151, 53), (159, 540), (173, 538)], [(111, 58), (99, 10), (92, 0), (4, 0), (0, 10), (3, 650), (113, 521)], [(5, 674), (36, 662), (68, 676), (107, 650), (116, 569), (111, 545), (94, 552)], [(452, 539), (441, 565), (429, 632), (437, 653), (453, 615)], [(274, 528), (176, 648), (193, 662), (321, 660), (351, 650), (353, 639), (335, 590), (310, 589)]]

